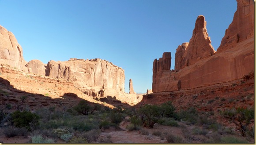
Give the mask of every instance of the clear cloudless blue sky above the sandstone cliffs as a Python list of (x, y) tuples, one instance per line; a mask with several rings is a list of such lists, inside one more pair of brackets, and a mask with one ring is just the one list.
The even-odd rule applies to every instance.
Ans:
[(204, 15), (217, 50), (236, 0), (0, 0), (0, 25), (14, 33), (24, 59), (101, 58), (124, 69), (125, 92), (152, 87), (152, 66), (189, 42)]

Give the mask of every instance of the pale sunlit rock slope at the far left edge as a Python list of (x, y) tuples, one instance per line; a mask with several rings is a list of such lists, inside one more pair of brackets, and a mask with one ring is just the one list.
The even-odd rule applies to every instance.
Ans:
[(27, 72), (26, 61), (23, 58), (23, 49), (13, 33), (0, 25), (0, 63)]

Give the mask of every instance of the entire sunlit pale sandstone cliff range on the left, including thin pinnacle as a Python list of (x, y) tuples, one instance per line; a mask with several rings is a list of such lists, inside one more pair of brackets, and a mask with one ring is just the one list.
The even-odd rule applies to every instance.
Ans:
[(70, 81), (84, 94), (92, 97), (107, 97), (128, 104), (136, 104), (142, 99), (139, 100), (134, 91), (131, 94), (124, 92), (124, 69), (106, 60), (70, 58), (64, 62), (51, 60), (47, 65), (40, 60), (26, 62), (23, 49), (13, 33), (1, 25), (0, 64), (58, 81)]

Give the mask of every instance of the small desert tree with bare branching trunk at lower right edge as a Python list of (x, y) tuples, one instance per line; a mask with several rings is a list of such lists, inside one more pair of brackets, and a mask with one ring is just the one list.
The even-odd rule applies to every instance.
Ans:
[[(222, 116), (231, 120), (241, 130), (242, 136), (245, 136), (247, 126), (252, 123), (254, 119), (254, 109), (252, 108), (237, 108), (228, 109), (221, 112)], [(235, 130), (236, 131), (236, 130)]]

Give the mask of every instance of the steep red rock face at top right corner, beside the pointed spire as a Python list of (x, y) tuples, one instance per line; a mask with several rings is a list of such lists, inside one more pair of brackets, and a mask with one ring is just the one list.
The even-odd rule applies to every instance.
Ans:
[(237, 43), (252, 36), (254, 36), (254, 1), (237, 0), (237, 11), (217, 51), (221, 53), (232, 49)]

